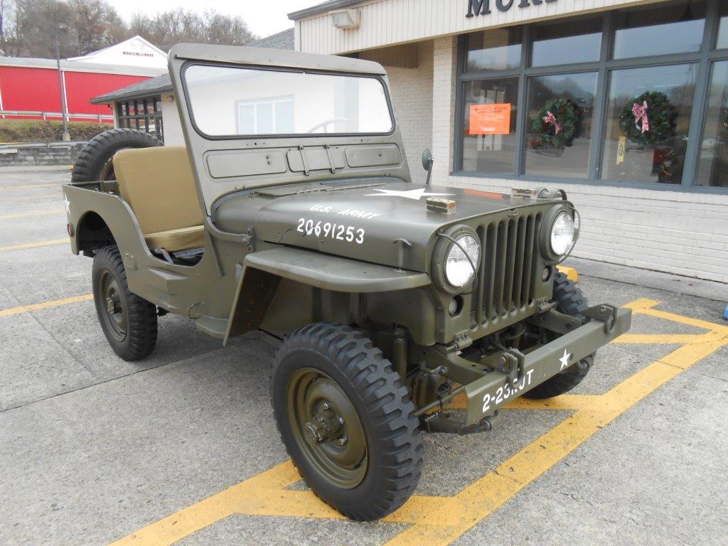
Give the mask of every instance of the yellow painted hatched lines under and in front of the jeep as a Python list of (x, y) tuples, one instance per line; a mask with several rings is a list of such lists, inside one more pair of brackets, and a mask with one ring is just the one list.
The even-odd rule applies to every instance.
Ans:
[[(652, 307), (657, 304), (657, 301), (638, 300), (628, 306), (636, 313), (654, 316), (653, 312), (656, 311)], [(668, 312), (657, 313), (665, 320), (696, 325), (696, 321), (689, 317)], [(728, 345), (727, 327), (704, 321), (697, 322), (708, 333), (674, 336), (674, 339), (683, 344), (682, 347), (638, 371), (604, 395), (563, 395), (553, 400), (519, 398), (508, 404), (507, 408), (572, 410), (574, 414), (511, 456), (494, 472), (484, 475), (455, 496), (412, 496), (403, 507), (382, 520), (411, 525), (387, 542), (387, 545), (449, 544), (512, 499), (628, 408), (699, 360)], [(662, 338), (649, 337), (651, 334), (644, 336), (644, 339), (657, 339), (657, 342), (662, 342)], [(631, 341), (637, 342), (636, 338)], [(630, 338), (622, 342), (630, 342)], [(462, 403), (462, 399), (456, 398), (452, 405), (459, 407)], [(114, 545), (170, 545), (235, 514), (343, 518), (317, 499), (312, 492), (285, 489), (298, 480), (298, 472), (290, 461), (279, 464), (167, 518), (151, 523), (119, 539)]]

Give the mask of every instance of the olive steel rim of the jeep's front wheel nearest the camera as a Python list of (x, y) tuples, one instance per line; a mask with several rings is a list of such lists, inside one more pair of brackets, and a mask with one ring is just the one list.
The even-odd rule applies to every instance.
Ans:
[(351, 489), (364, 479), (366, 437), (349, 397), (330, 376), (301, 368), (288, 381), (287, 412), (299, 451), (326, 480)]

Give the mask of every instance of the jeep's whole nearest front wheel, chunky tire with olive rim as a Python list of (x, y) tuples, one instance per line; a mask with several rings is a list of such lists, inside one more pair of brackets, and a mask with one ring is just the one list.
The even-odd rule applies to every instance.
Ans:
[(328, 505), (372, 521), (414, 492), (423, 461), (414, 404), (360, 331), (316, 323), (291, 333), (276, 353), (271, 397), (288, 454)]

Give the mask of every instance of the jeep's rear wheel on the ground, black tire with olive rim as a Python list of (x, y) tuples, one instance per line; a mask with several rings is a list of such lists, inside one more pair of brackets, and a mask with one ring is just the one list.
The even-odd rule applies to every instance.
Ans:
[(128, 361), (149, 355), (157, 344), (157, 307), (129, 291), (116, 246), (94, 256), (92, 285), (98, 321), (111, 349)]

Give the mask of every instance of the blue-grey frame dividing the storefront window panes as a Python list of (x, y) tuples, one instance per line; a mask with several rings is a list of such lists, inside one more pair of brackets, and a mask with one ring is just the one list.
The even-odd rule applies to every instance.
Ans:
[[(527, 112), (527, 84), (532, 76), (559, 76), (563, 74), (575, 74), (579, 72), (596, 71), (597, 87), (594, 98), (593, 112), (593, 135), (588, 165), (588, 178), (561, 178), (561, 177), (539, 177), (539, 181), (545, 183), (568, 183), (568, 184), (590, 184), (594, 186), (617, 186), (631, 189), (654, 189), (660, 191), (693, 191), (699, 193), (728, 194), (728, 187), (720, 186), (696, 186), (694, 185), (697, 176), (699, 163), (700, 143), (705, 129), (705, 117), (707, 116), (708, 92), (710, 87), (711, 68), (713, 63), (719, 60), (728, 60), (728, 49), (716, 49), (719, 30), (719, 1), (705, 1), (705, 25), (703, 29), (703, 42), (697, 52), (673, 53), (669, 55), (651, 55), (647, 57), (613, 59), (614, 48), (614, 10), (601, 14), (601, 51), (599, 60), (586, 63), (556, 64), (550, 66), (531, 67), (531, 51), (533, 47), (534, 23), (523, 25), (523, 44), (521, 44), (521, 66), (506, 70), (472, 71), (467, 72), (467, 36), (458, 36), (457, 61), (456, 61), (456, 103), (453, 162), (451, 175), (465, 176), (472, 178), (504, 178), (507, 180), (534, 181), (533, 175), (525, 174), (526, 167), (526, 122)], [(659, 7), (660, 4), (652, 4)], [(574, 19), (594, 16), (575, 15)], [(597, 17), (600, 15), (597, 14)], [(487, 31), (487, 29), (486, 29)], [(482, 32), (482, 31), (480, 31)], [(635, 182), (620, 181), (609, 178), (600, 178), (601, 160), (604, 153), (604, 132), (606, 130), (606, 109), (608, 103), (609, 81), (612, 71), (622, 68), (641, 68), (649, 66), (666, 66), (684, 63), (695, 63), (697, 66), (695, 96), (690, 114), (689, 138), (685, 151), (685, 162), (682, 181), (680, 184), (668, 184), (660, 182)], [(516, 105), (516, 125), (514, 169), (512, 173), (483, 173), (479, 171), (462, 170), (463, 159), (463, 127), (464, 127), (464, 87), (467, 82), (473, 80), (499, 79), (508, 76), (518, 77), (518, 103)]]

